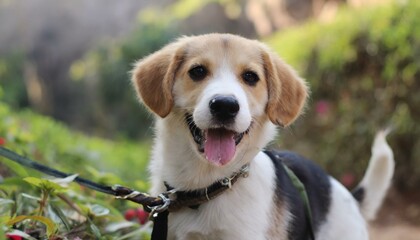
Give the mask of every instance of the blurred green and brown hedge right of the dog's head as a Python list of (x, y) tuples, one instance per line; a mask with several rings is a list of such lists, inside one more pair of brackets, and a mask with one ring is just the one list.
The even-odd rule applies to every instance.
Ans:
[[(333, 175), (362, 176), (375, 132), (387, 126), (399, 189), (420, 187), (419, 1), (341, 9), (267, 39), (311, 87), (306, 114), (282, 147), (319, 161)], [(346, 173), (347, 172), (347, 173)]]

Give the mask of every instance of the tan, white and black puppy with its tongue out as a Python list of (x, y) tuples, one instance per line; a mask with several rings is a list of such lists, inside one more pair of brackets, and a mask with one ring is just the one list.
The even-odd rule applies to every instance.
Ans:
[[(376, 136), (352, 193), (296, 153), (265, 150), (308, 98), (305, 81), (265, 44), (231, 34), (182, 37), (138, 61), (132, 83), (156, 115), (152, 195), (207, 191), (248, 169), (219, 196), (171, 213), (168, 239), (369, 238), (367, 221), (394, 171), (386, 133)], [(308, 204), (286, 168), (304, 185)]]

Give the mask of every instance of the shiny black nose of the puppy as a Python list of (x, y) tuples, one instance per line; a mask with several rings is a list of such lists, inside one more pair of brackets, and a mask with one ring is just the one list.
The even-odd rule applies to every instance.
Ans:
[(239, 112), (239, 103), (233, 96), (216, 96), (209, 103), (211, 114), (221, 122), (233, 120)]

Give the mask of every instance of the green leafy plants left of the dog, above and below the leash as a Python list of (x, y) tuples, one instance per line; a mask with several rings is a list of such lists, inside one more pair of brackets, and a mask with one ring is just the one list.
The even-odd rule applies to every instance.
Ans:
[[(148, 143), (87, 137), (29, 110), (13, 112), (4, 102), (0, 139), (4, 147), (61, 171), (102, 184), (148, 189)], [(2, 157), (0, 176), (0, 238), (7, 233), (35, 239), (148, 239), (150, 224), (139, 228), (121, 214), (138, 207), (134, 203), (70, 184), (71, 178), (41, 178)]]

